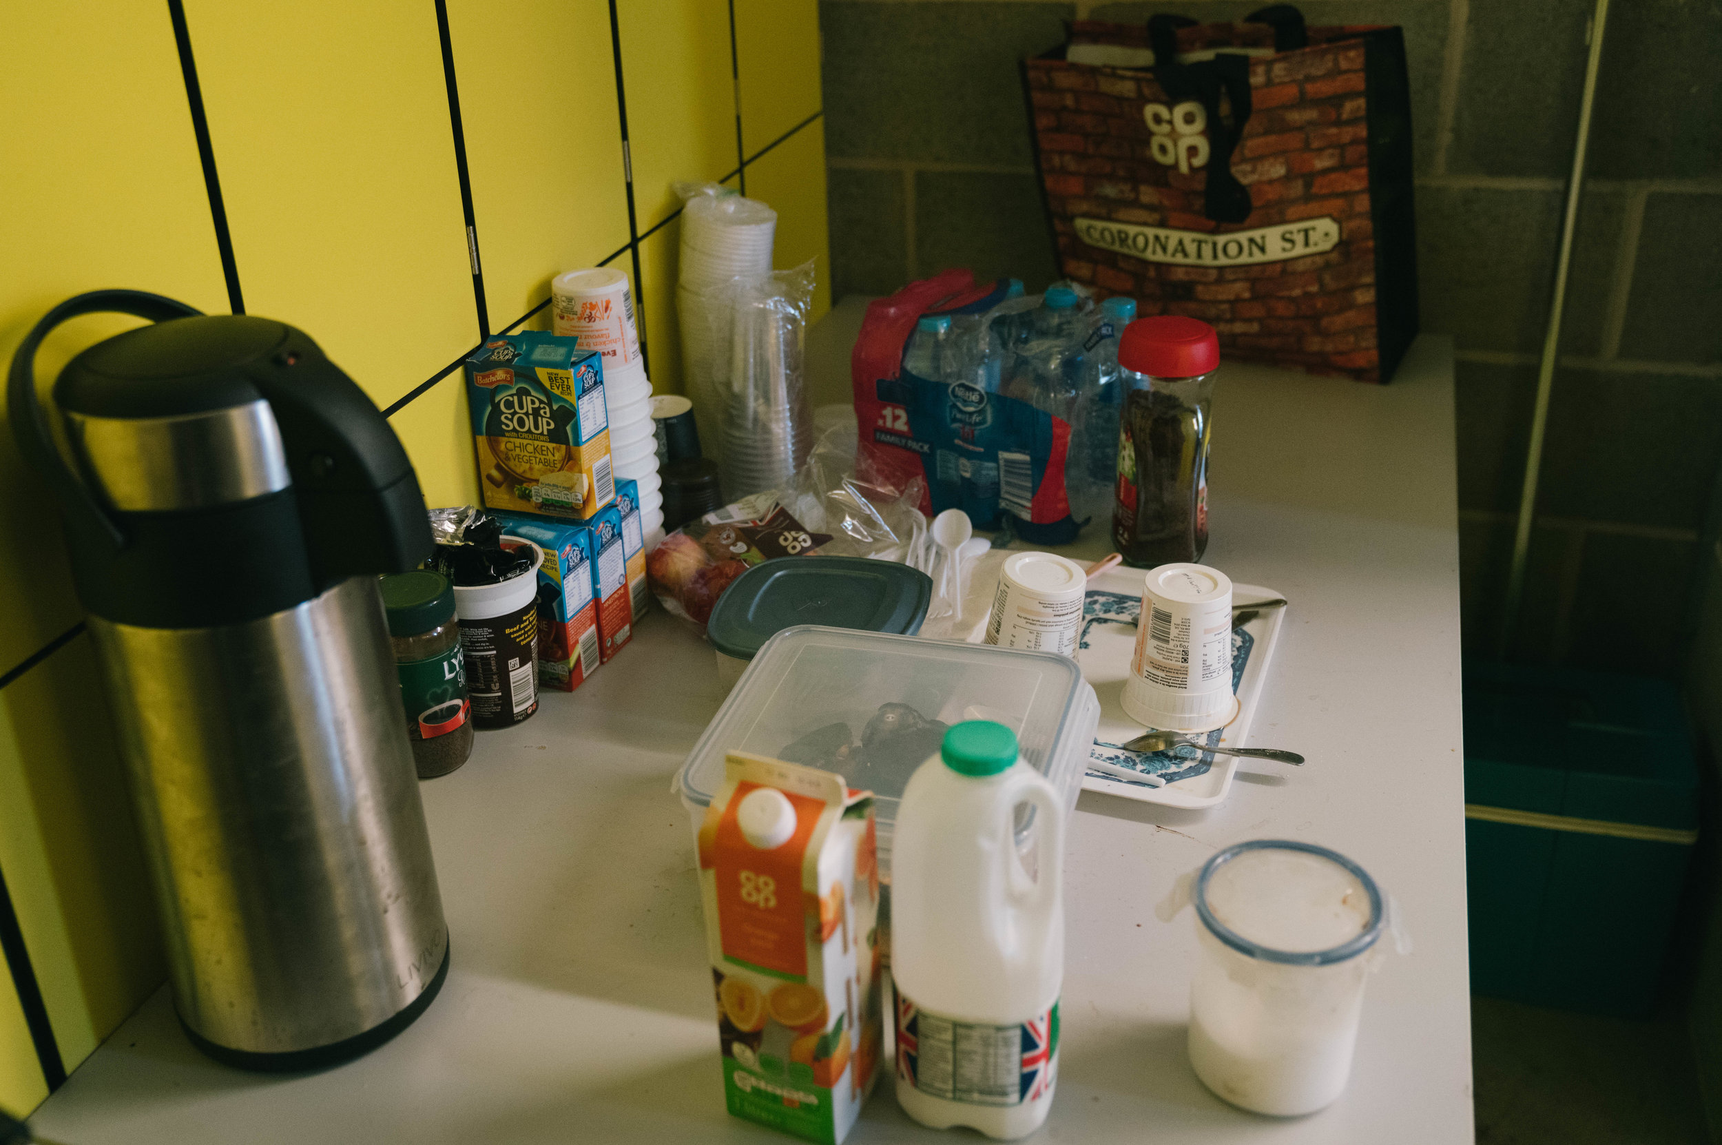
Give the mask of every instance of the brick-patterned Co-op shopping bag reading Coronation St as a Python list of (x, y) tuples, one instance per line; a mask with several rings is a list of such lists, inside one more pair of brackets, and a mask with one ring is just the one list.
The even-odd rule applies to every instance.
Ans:
[(1398, 28), (1078, 21), (1023, 76), (1068, 277), (1212, 324), (1226, 358), (1393, 375), (1417, 334)]

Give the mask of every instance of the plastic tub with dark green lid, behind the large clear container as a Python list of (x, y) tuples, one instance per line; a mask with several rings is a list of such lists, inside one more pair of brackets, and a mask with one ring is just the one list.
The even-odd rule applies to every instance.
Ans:
[(894, 561), (796, 556), (754, 565), (718, 597), (706, 637), (718, 649), (718, 682), (735, 687), (754, 654), (792, 625), (914, 635), (933, 582)]

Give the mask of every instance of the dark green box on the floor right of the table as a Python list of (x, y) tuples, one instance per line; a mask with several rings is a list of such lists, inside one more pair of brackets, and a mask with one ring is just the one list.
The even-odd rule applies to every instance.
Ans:
[(1698, 840), (1672, 684), (1467, 663), (1471, 990), (1650, 1014)]

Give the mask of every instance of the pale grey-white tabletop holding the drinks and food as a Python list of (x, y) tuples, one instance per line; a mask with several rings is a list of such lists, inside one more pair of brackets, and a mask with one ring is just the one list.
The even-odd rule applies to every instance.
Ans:
[[(854, 322), (844, 306), (816, 331), (821, 401)], [(1252, 740), (1310, 761), (1243, 761), (1209, 811), (1081, 795), (1059, 1088), (1031, 1140), (1472, 1140), (1452, 377), (1434, 337), (1384, 387), (1221, 374), (1205, 560), (1290, 599)], [(689, 820), (670, 792), (720, 701), (711, 649), (654, 613), (579, 692), (480, 733), (467, 766), (422, 785), (453, 964), (394, 1042), (319, 1074), (246, 1074), (191, 1049), (164, 987), (38, 1111), (36, 1133), (65, 1145), (792, 1140), (723, 1111)], [(1350, 1090), (1304, 1119), (1240, 1112), (1197, 1081), (1183, 1049), (1193, 923), (1154, 918), (1178, 873), (1259, 837), (1357, 859), (1415, 940), (1369, 985)], [(954, 1138), (899, 1112), (885, 1076), (849, 1140)]]

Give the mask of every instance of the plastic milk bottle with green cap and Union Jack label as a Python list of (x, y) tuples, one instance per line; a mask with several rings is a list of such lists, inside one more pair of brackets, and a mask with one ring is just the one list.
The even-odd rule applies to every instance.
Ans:
[[(1038, 876), (1014, 842), (1035, 809)], [(892, 842), (897, 1102), (995, 1138), (1047, 1119), (1064, 981), (1064, 806), (1016, 733), (971, 720), (909, 778)]]

